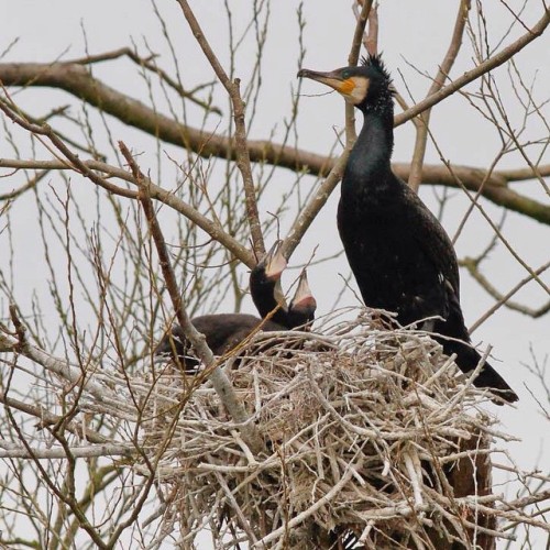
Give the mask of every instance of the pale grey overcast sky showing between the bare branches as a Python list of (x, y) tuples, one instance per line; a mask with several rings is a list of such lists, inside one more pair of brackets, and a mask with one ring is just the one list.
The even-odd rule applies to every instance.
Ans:
[[(304, 19), (307, 21), (305, 65), (308, 68), (328, 70), (345, 65), (354, 25), (350, 3), (340, 1), (305, 2)], [(189, 81), (189, 87), (212, 79), (212, 74), (187, 30), (177, 3), (170, 1), (156, 2), (156, 4), (165, 15), (169, 35), (180, 61), (183, 76), (186, 81)], [(228, 25), (223, 3), (220, 1), (196, 1), (193, 4), (212, 47), (222, 64), (228, 67)], [(230, 4), (233, 10), (233, 19), (239, 28), (241, 22), (246, 20), (244, 10), (249, 10), (251, 2), (233, 1)], [(424, 2), (387, 0), (382, 2), (380, 50), (384, 53), (386, 64), (403, 95), (406, 95), (406, 88), (399, 72), (415, 98), (420, 98), (428, 89), (429, 81), (419, 75), (417, 69), (433, 74), (449, 42), (455, 4), (457, 2), (438, 0)], [(538, 19), (540, 4), (539, 1), (527, 3), (527, 9), (522, 14), (526, 24), (532, 24)], [(280, 135), (282, 121), (289, 117), (290, 97), (297, 87), (296, 73), (299, 68), (296, 62), (298, 42), (296, 10), (298, 6), (299, 3), (295, 0), (286, 0), (273, 2), (271, 8), (271, 34), (262, 59), (264, 87), (258, 113), (251, 130), (251, 136), (254, 139), (267, 139), (273, 129), (275, 129), (275, 135)], [(510, 23), (510, 14), (501, 2), (484, 2), (484, 6), (487, 10), (487, 20), (491, 22), (488, 40), (496, 47), (498, 37)], [(80, 57), (85, 54), (86, 48), (90, 54), (98, 54), (131, 45), (133, 42), (143, 52), (145, 52), (144, 44), (148, 44), (151, 50), (162, 54), (161, 59), (165, 59), (161, 61), (160, 65), (166, 68), (172, 66), (166, 41), (162, 35), (151, 2), (135, 0), (117, 0), (114, 2), (105, 0), (95, 2), (18, 0), (14, 2), (0, 0), (0, 9), (3, 19), (0, 52), (4, 51), (12, 41), (19, 38), (19, 42), (4, 55), (2, 62), (48, 62), (56, 58)], [(524, 29), (518, 26), (514, 29), (513, 34), (517, 36)], [(549, 92), (549, 51), (548, 36), (543, 36), (517, 57), (518, 66), (528, 84), (535, 79), (534, 95), (538, 100), (548, 97)], [(243, 85), (250, 76), (254, 61), (253, 55), (253, 51), (248, 53), (244, 48), (238, 56), (235, 74), (242, 78)], [(471, 67), (472, 50), (465, 46), (453, 69), (453, 76), (459, 76)], [(135, 87), (128, 86), (129, 79), (135, 79), (133, 67), (129, 63), (102, 64), (95, 70), (110, 86), (118, 87), (127, 94), (135, 94), (139, 99), (147, 101), (140, 80), (135, 80)], [(515, 125), (519, 125), (522, 116), (521, 109), (514, 98), (512, 89), (506, 85), (506, 68), (503, 67), (495, 72), (495, 77), (503, 82), (503, 100), (509, 107), (509, 118)], [(302, 92), (307, 94), (308, 97), (301, 99), (298, 120), (299, 146), (326, 154), (334, 142), (334, 128), (340, 129), (343, 124), (343, 101), (336, 94), (321, 96), (327, 90), (320, 88), (315, 82), (304, 84)], [(216, 91), (216, 98), (223, 106), (227, 117), (227, 101), (222, 98), (220, 90)], [(21, 101), (33, 114), (41, 114), (55, 105), (70, 102), (72, 98), (69, 99), (63, 92), (48, 96), (44, 90), (38, 90), (21, 96)], [(162, 105), (162, 100), (160, 101)], [(411, 101), (409, 100), (409, 102)], [(546, 113), (548, 114), (548, 107), (546, 107)], [(152, 146), (152, 141), (147, 136), (122, 124), (117, 124), (113, 128), (120, 132), (114, 136), (116, 139), (125, 140), (135, 150), (144, 151), (142, 162), (154, 158), (154, 151), (147, 157), (147, 150)], [(455, 165), (487, 167), (501, 147), (492, 125), (482, 120), (464, 98), (455, 98), (435, 109), (432, 132), (444, 158)], [(532, 135), (531, 139), (540, 139), (544, 129), (542, 124), (534, 122), (526, 132), (528, 135)], [(410, 123), (399, 127), (396, 131), (395, 161), (408, 162), (410, 160), (413, 138), (414, 132)], [(175, 147), (167, 148), (176, 151)], [(45, 152), (42, 152), (42, 155), (43, 158), (47, 158)], [(1, 142), (0, 157), (11, 156), (13, 156), (11, 148)], [(432, 145), (428, 147), (427, 162), (439, 163), (439, 155)], [(549, 162), (550, 155), (546, 154), (542, 164)], [(499, 168), (524, 166), (525, 162), (519, 155), (508, 155), (498, 165)], [(6, 179), (0, 180), (0, 190), (4, 190), (7, 186), (9, 183)], [(548, 202), (548, 196), (543, 195), (540, 185), (536, 183), (519, 184), (518, 190), (529, 193), (538, 200)], [(433, 208), (436, 202), (432, 195), (431, 189), (422, 189), (422, 198)], [(340, 249), (336, 231), (337, 200), (338, 190), (315, 222), (293, 262), (306, 261), (317, 245), (320, 246), (319, 254), (323, 256)], [(460, 191), (455, 191), (443, 219), (446, 229), (451, 235), (459, 227), (468, 206), (468, 200), (461, 197)], [(483, 206), (495, 220), (499, 220), (499, 209), (486, 201), (483, 202)], [(267, 195), (265, 201), (261, 204), (261, 216), (267, 216), (268, 210)], [(290, 217), (283, 220), (283, 229), (288, 229), (290, 221)], [(25, 230), (32, 231), (31, 226), (28, 226), (26, 229), (25, 224), (18, 226), (18, 233), (14, 235), (15, 242), (32, 242), (33, 235), (29, 232), (25, 233)], [(550, 251), (548, 227), (527, 220), (519, 215), (510, 213), (504, 227), (504, 234), (532, 268), (537, 268), (548, 261)], [(480, 253), (488, 242), (490, 235), (486, 221), (482, 216), (474, 213), (469, 219), (466, 229), (458, 241), (459, 256), (466, 253), (470, 255)], [(24, 279), (21, 278), (24, 280), (24, 285), (20, 285), (19, 288), (21, 296), (31, 293), (36, 285), (36, 282), (33, 280), (35, 272), (32, 270), (32, 261), (29, 260), (29, 262), (28, 265), (25, 260), (21, 258), (21, 265), (16, 266), (21, 277), (26, 271)], [(315, 267), (310, 270), (309, 279), (318, 299), (320, 315), (333, 308), (334, 297), (331, 289), (340, 285), (340, 274), (346, 275), (346, 273), (348, 266), (343, 257), (330, 264), (330, 268), (323, 266), (318, 271)], [(461, 273), (461, 275), (462, 306), (466, 323), (471, 324), (484, 315), (487, 308), (493, 305), (493, 300), (465, 273)], [(517, 261), (504, 246), (498, 246), (493, 253), (491, 272), (487, 275), (492, 277), (497, 288), (506, 292), (524, 278), (526, 272), (518, 266)], [(549, 284), (550, 277), (548, 275), (543, 279)], [(540, 305), (548, 298), (540, 287), (534, 284), (518, 296), (518, 299), (532, 307)], [(352, 293), (346, 293), (340, 305), (346, 306), (354, 302)], [(253, 311), (250, 304), (248, 309)], [(473, 336), (475, 342), (483, 341), (484, 344), (491, 343), (493, 345), (494, 355), (502, 360), (498, 365), (499, 371), (520, 395), (517, 410), (510, 407), (502, 407), (496, 410), (504, 424), (504, 429), (524, 439), (524, 443), (510, 446), (515, 460), (524, 468), (530, 469), (535, 465), (540, 453), (546, 454), (547, 458), (541, 461), (541, 465), (547, 471), (548, 457), (550, 457), (550, 441), (547, 435), (549, 431), (548, 421), (544, 424), (541, 420), (532, 398), (524, 388), (525, 381), (530, 384), (531, 389), (537, 395), (541, 395), (532, 377), (521, 366), (521, 362), (531, 362), (529, 351), (531, 346), (536, 355), (543, 360), (549, 351), (549, 334), (548, 316), (534, 321), (528, 317), (502, 308)]]

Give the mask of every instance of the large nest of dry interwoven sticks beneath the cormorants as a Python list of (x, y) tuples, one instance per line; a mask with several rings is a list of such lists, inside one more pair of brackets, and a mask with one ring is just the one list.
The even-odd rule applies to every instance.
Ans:
[(189, 548), (205, 528), (218, 548), (492, 548), (488, 396), (429, 336), (365, 315), (258, 334), (240, 356), (227, 372), (261, 453), (209, 383), (156, 381), (143, 444), (165, 449), (164, 532)]

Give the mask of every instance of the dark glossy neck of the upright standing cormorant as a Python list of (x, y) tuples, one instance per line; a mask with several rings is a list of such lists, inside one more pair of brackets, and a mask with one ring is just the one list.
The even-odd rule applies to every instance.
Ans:
[(345, 166), (344, 187), (346, 182), (366, 184), (371, 178), (384, 184), (384, 176), (391, 173), (389, 161), (394, 148), (393, 103), (367, 106), (361, 111), (364, 116), (363, 128)]

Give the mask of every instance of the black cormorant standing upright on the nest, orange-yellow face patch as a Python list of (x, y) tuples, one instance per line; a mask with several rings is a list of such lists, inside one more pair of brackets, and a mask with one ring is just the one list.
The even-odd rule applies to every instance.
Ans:
[[(470, 345), (460, 307), (457, 255), (448, 234), (420, 198), (391, 168), (394, 146), (392, 79), (381, 57), (330, 73), (301, 69), (298, 77), (330, 86), (364, 116), (342, 178), (338, 230), (366, 306), (397, 314), (407, 326), (436, 332), (463, 372), (481, 361)], [(474, 381), (508, 402), (517, 395), (485, 363)]]

